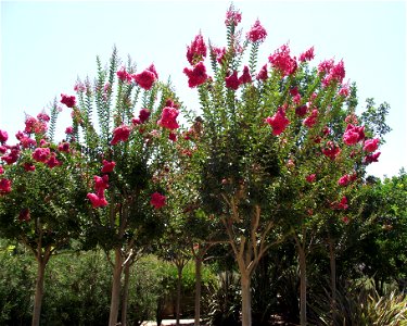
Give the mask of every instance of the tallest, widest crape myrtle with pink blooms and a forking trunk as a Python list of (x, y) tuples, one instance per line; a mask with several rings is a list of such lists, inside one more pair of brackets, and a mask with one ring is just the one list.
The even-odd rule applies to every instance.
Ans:
[[(355, 163), (377, 161), (380, 152), (379, 139), (366, 139), (363, 126), (345, 120), (355, 108), (346, 102), (352, 89), (343, 83), (342, 61), (311, 68), (314, 48), (296, 59), (283, 45), (257, 70), (267, 32), (257, 20), (242, 39), (240, 22), (241, 13), (230, 7), (225, 48), (207, 48), (198, 35), (183, 72), (198, 88), (202, 110), (193, 153), (202, 208), (224, 226), (241, 276), (242, 325), (251, 325), (251, 277), (260, 258), (276, 241), (294, 236), (305, 276), (309, 223), (329, 223), (322, 213), (309, 216), (320, 208), (344, 211), (349, 199), (339, 179), (355, 181)], [(213, 76), (204, 63), (207, 52)]]

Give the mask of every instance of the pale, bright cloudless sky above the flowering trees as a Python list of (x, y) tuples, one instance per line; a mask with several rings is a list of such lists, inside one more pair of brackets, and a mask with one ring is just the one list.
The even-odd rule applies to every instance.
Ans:
[[(359, 112), (365, 99), (389, 102), (393, 131), (369, 173), (382, 177), (407, 167), (406, 2), (405, 1), (234, 1), (244, 33), (256, 18), (268, 32), (259, 65), (290, 41), (294, 55), (310, 46), (320, 61), (343, 59), (356, 82)], [(183, 102), (196, 109), (182, 70), (186, 47), (202, 32), (226, 43), (225, 13), (230, 1), (1, 1), (0, 128), (14, 134), (24, 113), (36, 115), (60, 93), (74, 95), (78, 76), (94, 77), (96, 55), (107, 62), (116, 45), (143, 70), (151, 63), (162, 79), (171, 77)], [(67, 110), (59, 128), (69, 124)]]

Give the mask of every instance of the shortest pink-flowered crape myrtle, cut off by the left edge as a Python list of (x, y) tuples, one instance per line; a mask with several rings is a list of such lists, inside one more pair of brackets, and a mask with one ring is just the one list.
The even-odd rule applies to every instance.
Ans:
[(55, 100), (51, 117), (26, 115), (16, 145), (0, 130), (0, 234), (24, 244), (37, 261), (33, 325), (40, 322), (47, 263), (69, 248), (86, 221), (82, 154), (74, 139), (53, 142), (60, 109)]

